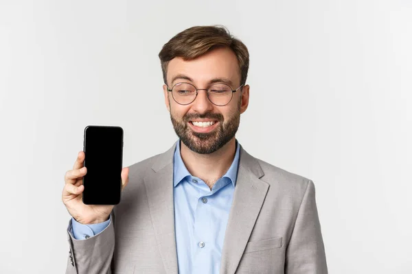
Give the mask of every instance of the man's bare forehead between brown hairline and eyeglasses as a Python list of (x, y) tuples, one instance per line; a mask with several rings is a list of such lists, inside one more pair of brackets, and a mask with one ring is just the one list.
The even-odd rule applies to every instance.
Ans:
[[(229, 48), (208, 51), (193, 60), (174, 58), (168, 64), (168, 84), (177, 75), (185, 75), (193, 79), (194, 84), (207, 84), (211, 79), (226, 78), (233, 84), (240, 83), (240, 70), (235, 53)], [(179, 82), (179, 79), (174, 81)]]

